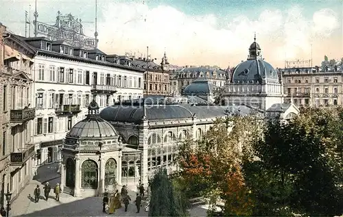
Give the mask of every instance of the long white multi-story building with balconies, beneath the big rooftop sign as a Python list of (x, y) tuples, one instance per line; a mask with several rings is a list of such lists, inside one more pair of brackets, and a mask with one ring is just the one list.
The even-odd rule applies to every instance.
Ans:
[(116, 101), (143, 97), (143, 69), (132, 60), (64, 40), (25, 38), (36, 48), (34, 92), (36, 166), (58, 162), (66, 132), (84, 119), (95, 97), (100, 110)]

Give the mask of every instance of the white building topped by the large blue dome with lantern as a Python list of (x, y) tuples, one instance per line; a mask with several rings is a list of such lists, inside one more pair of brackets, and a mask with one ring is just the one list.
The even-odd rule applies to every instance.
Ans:
[(261, 57), (261, 47), (255, 41), (249, 47), (248, 60), (235, 68), (223, 94), (226, 105), (255, 107), (268, 116), (288, 118), (298, 114), (293, 103), (284, 103), (283, 82), (275, 69)]

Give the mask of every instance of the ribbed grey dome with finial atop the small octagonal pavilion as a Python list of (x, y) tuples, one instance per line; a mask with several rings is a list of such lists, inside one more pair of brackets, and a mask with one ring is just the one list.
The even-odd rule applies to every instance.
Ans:
[(117, 131), (99, 116), (99, 105), (93, 100), (88, 106), (88, 115), (76, 123), (67, 134), (74, 138), (104, 138), (118, 136)]

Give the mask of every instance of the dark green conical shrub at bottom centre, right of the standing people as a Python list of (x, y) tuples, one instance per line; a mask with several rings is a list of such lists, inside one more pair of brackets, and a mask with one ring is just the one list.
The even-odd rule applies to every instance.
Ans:
[[(174, 184), (174, 185), (173, 185)], [(149, 216), (188, 216), (182, 186), (167, 177), (167, 170), (160, 169), (150, 181)]]

